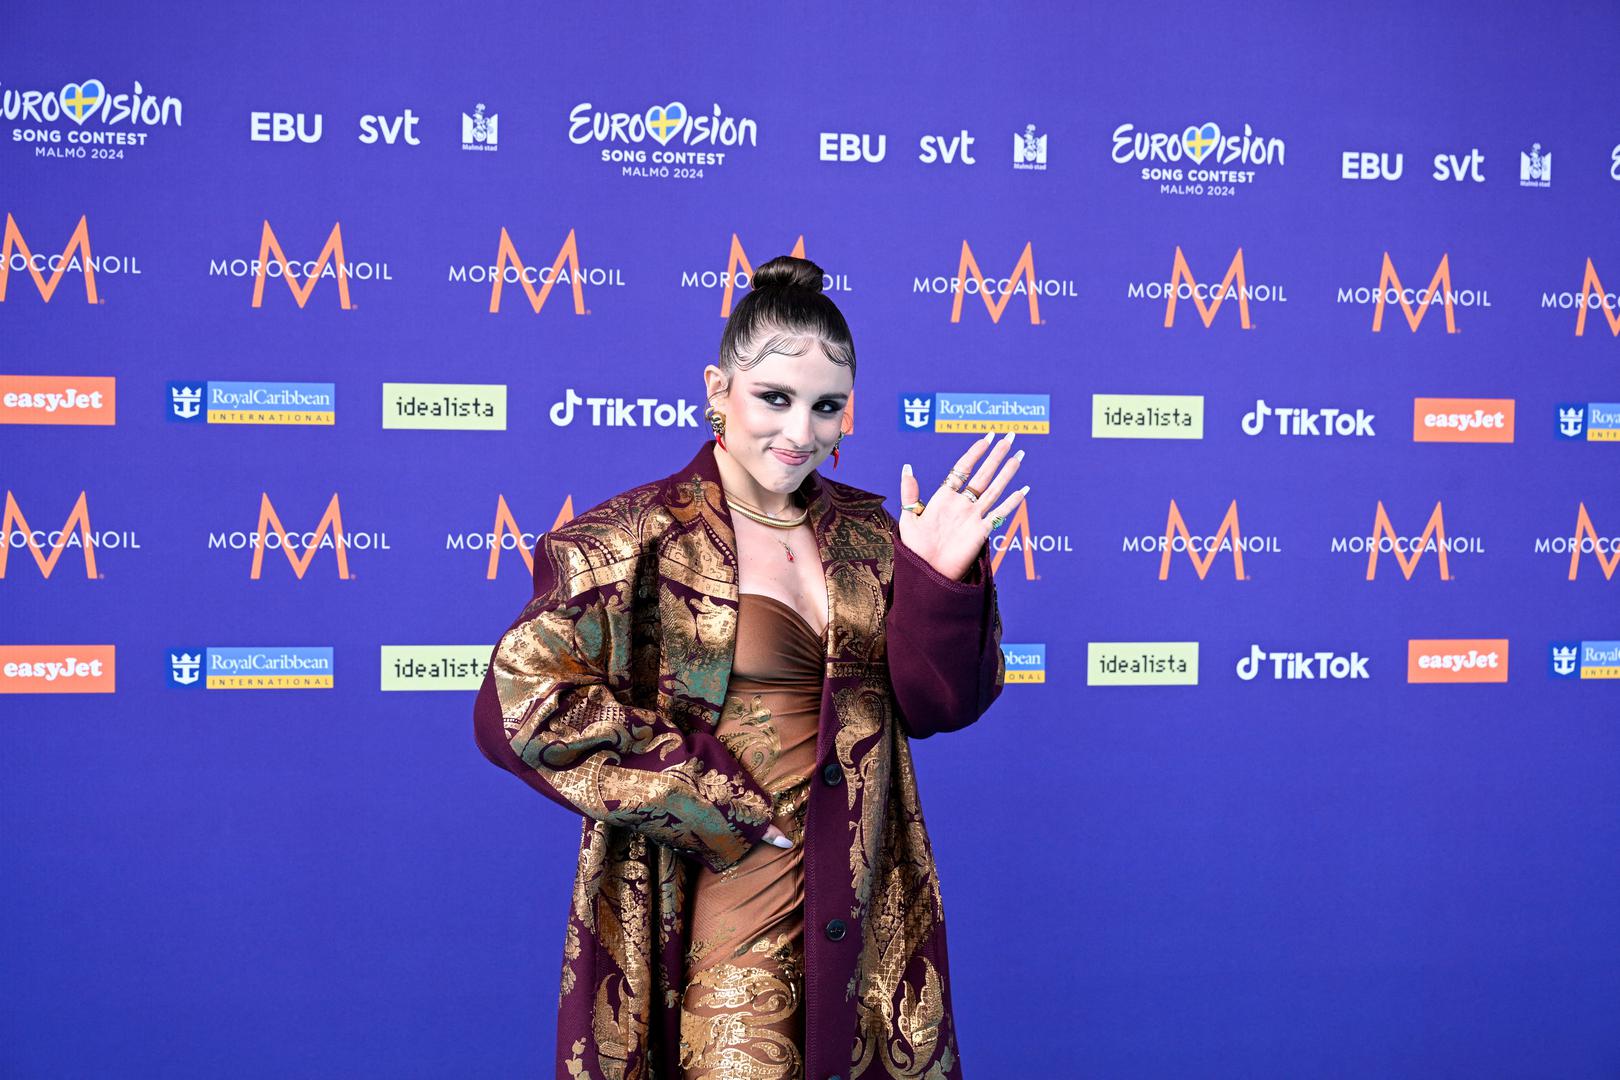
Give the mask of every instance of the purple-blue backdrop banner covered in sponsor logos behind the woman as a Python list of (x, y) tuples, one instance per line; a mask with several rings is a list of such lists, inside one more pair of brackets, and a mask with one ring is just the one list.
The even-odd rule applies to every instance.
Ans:
[(546, 1069), (473, 693), (792, 253), (1027, 450), (969, 1075), (1620, 1075), (1612, 5), (343, 6), (0, 16), (0, 1070)]

